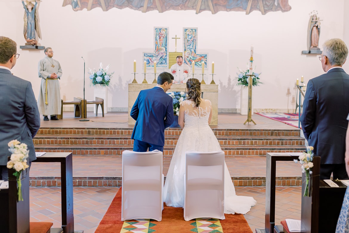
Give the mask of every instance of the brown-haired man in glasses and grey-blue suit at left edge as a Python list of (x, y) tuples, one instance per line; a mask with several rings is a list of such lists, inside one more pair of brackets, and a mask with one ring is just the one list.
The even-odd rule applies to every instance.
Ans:
[(27, 144), (29, 165), (36, 159), (32, 138), (40, 128), (40, 116), (31, 83), (11, 73), (19, 55), (16, 42), (0, 36), (0, 180), (8, 179), (9, 141)]

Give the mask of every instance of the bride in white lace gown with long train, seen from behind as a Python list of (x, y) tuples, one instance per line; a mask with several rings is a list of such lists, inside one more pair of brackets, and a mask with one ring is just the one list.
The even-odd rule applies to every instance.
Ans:
[[(174, 149), (164, 185), (164, 202), (167, 206), (184, 206), (185, 152), (219, 151), (221, 146), (211, 130), (212, 106), (201, 99), (201, 83), (198, 79), (187, 80), (187, 100), (180, 103), (178, 123), (183, 129)], [(250, 211), (256, 204), (253, 197), (237, 196), (227, 164), (224, 162), (224, 213)]]

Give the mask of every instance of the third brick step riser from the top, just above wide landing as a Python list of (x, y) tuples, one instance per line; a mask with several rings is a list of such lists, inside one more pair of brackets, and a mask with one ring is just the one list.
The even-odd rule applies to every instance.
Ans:
[[(172, 155), (175, 145), (164, 147), (164, 155)], [(36, 151), (72, 152), (75, 155), (121, 155), (122, 151), (132, 150), (132, 145), (36, 145)], [(303, 152), (304, 146), (250, 146), (250, 145), (221, 145), (225, 155), (266, 155), (268, 152)]]

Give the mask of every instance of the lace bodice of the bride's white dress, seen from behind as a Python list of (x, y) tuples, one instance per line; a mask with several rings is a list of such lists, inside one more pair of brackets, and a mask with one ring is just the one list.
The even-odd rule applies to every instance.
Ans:
[(211, 101), (204, 100), (200, 102), (200, 106), (196, 107), (192, 100), (185, 100), (180, 103), (184, 108), (185, 127), (190, 126), (208, 126), (208, 118), (211, 112)]

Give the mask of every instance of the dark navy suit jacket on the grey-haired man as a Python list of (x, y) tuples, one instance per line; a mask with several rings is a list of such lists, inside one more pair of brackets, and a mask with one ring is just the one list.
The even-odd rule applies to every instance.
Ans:
[(300, 123), (321, 164), (344, 163), (348, 112), (349, 75), (342, 68), (309, 80)]

